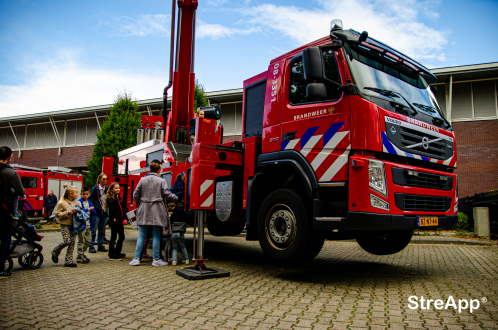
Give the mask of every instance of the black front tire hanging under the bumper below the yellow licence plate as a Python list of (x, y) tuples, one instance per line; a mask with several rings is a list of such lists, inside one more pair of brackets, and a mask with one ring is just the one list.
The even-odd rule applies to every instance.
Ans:
[(363, 250), (383, 256), (403, 250), (410, 243), (412, 235), (413, 230), (392, 230), (379, 235), (358, 237), (356, 241)]

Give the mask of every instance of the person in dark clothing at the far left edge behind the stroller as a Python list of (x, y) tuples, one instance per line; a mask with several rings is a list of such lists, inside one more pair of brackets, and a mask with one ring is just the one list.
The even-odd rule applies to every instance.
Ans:
[[(12, 217), (10, 206), (12, 200), (25, 194), (19, 175), (8, 164), (12, 160), (12, 150), (0, 147), (0, 279), (12, 276), (5, 271), (5, 261), (10, 254), (12, 241)], [(14, 193), (11, 192), (14, 189)]]

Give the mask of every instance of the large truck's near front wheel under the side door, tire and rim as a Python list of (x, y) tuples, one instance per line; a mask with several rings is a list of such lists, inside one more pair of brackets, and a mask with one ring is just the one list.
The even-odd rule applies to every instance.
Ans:
[(297, 190), (279, 189), (268, 195), (258, 214), (258, 238), (263, 252), (279, 263), (314, 259), (325, 237), (313, 229), (306, 198)]

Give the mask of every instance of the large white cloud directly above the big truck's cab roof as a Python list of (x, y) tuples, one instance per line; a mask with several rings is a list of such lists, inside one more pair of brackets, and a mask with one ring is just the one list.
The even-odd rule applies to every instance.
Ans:
[[(419, 20), (419, 9), (427, 15), (428, 6), (416, 0), (319, 0), (319, 8), (263, 4), (241, 10), (248, 23), (269, 28), (304, 44), (328, 35), (330, 21), (343, 20), (344, 28), (368, 31), (369, 35), (418, 60), (441, 60), (442, 48), (448, 40), (442, 31), (430, 28)], [(437, 5), (436, 2), (434, 2)], [(433, 13), (433, 16), (435, 14)]]

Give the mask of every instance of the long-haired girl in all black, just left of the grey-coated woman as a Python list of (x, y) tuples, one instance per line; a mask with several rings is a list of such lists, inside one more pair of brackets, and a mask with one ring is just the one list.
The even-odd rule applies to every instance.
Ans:
[[(109, 209), (109, 227), (111, 240), (109, 241), (109, 260), (122, 260), (126, 254), (121, 253), (124, 241), (125, 205), (119, 196), (119, 183), (113, 182), (107, 191), (104, 207)], [(118, 240), (116, 238), (119, 236)]]

